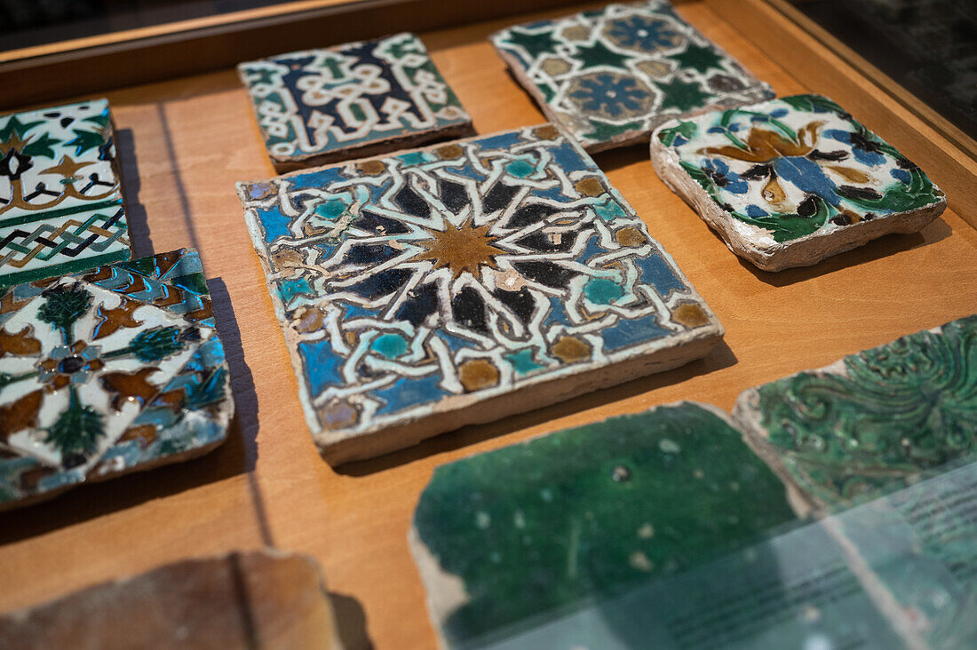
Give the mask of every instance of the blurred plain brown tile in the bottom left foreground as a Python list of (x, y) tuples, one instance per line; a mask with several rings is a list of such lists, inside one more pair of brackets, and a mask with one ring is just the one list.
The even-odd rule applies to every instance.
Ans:
[(0, 647), (340, 650), (342, 644), (316, 563), (266, 550), (183, 560), (11, 612), (0, 617)]

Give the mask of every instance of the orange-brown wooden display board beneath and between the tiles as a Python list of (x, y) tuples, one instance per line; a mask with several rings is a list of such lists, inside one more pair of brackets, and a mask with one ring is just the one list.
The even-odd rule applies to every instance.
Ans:
[[(816, 81), (795, 78), (769, 59), (709, 3), (682, 3), (679, 13), (779, 95), (818, 90), (805, 85)], [(486, 40), (511, 22), (423, 34), (480, 133), (543, 121)], [(765, 31), (764, 37), (781, 35)], [(881, 238), (808, 269), (766, 274), (730, 253), (665, 188), (646, 147), (601, 153), (598, 164), (726, 326), (725, 345), (684, 368), (337, 470), (319, 458), (308, 434), (234, 195), (235, 181), (274, 175), (234, 71), (107, 96), (136, 252), (200, 250), (237, 414), (227, 444), (211, 455), (0, 517), (0, 611), (184, 557), (267, 544), (319, 560), (350, 647), (367, 640), (378, 648), (433, 647), (407, 529), (436, 465), (676, 400), (728, 411), (750, 386), (977, 312), (977, 231), (954, 211), (949, 191), (951, 209), (919, 234)], [(891, 113), (860, 113), (864, 98), (833, 99), (900, 144), (905, 124), (890, 121)], [(943, 170), (926, 171), (947, 187)]]

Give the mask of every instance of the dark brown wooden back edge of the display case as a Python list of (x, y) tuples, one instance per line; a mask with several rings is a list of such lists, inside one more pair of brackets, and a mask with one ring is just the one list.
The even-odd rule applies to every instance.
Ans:
[[(0, 109), (103, 93), (234, 67), (242, 61), (376, 38), (430, 31), (578, 4), (579, 0), (305, 0), (287, 11), (237, 12), (67, 41), (64, 48), (21, 49), (0, 58)], [(178, 29), (178, 27), (180, 29)], [(187, 27), (187, 29), (183, 29)], [(13, 54), (13, 53), (12, 53)]]

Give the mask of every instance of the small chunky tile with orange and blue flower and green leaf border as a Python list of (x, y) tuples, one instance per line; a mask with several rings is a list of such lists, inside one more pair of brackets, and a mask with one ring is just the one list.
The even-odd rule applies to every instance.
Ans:
[(767, 271), (913, 233), (947, 206), (919, 167), (818, 95), (669, 122), (652, 161), (730, 250)]

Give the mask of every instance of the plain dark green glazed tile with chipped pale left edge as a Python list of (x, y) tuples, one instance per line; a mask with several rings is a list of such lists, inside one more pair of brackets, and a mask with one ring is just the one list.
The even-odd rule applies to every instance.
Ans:
[(446, 646), (479, 647), (794, 521), (726, 415), (682, 403), (436, 468), (410, 542)]

